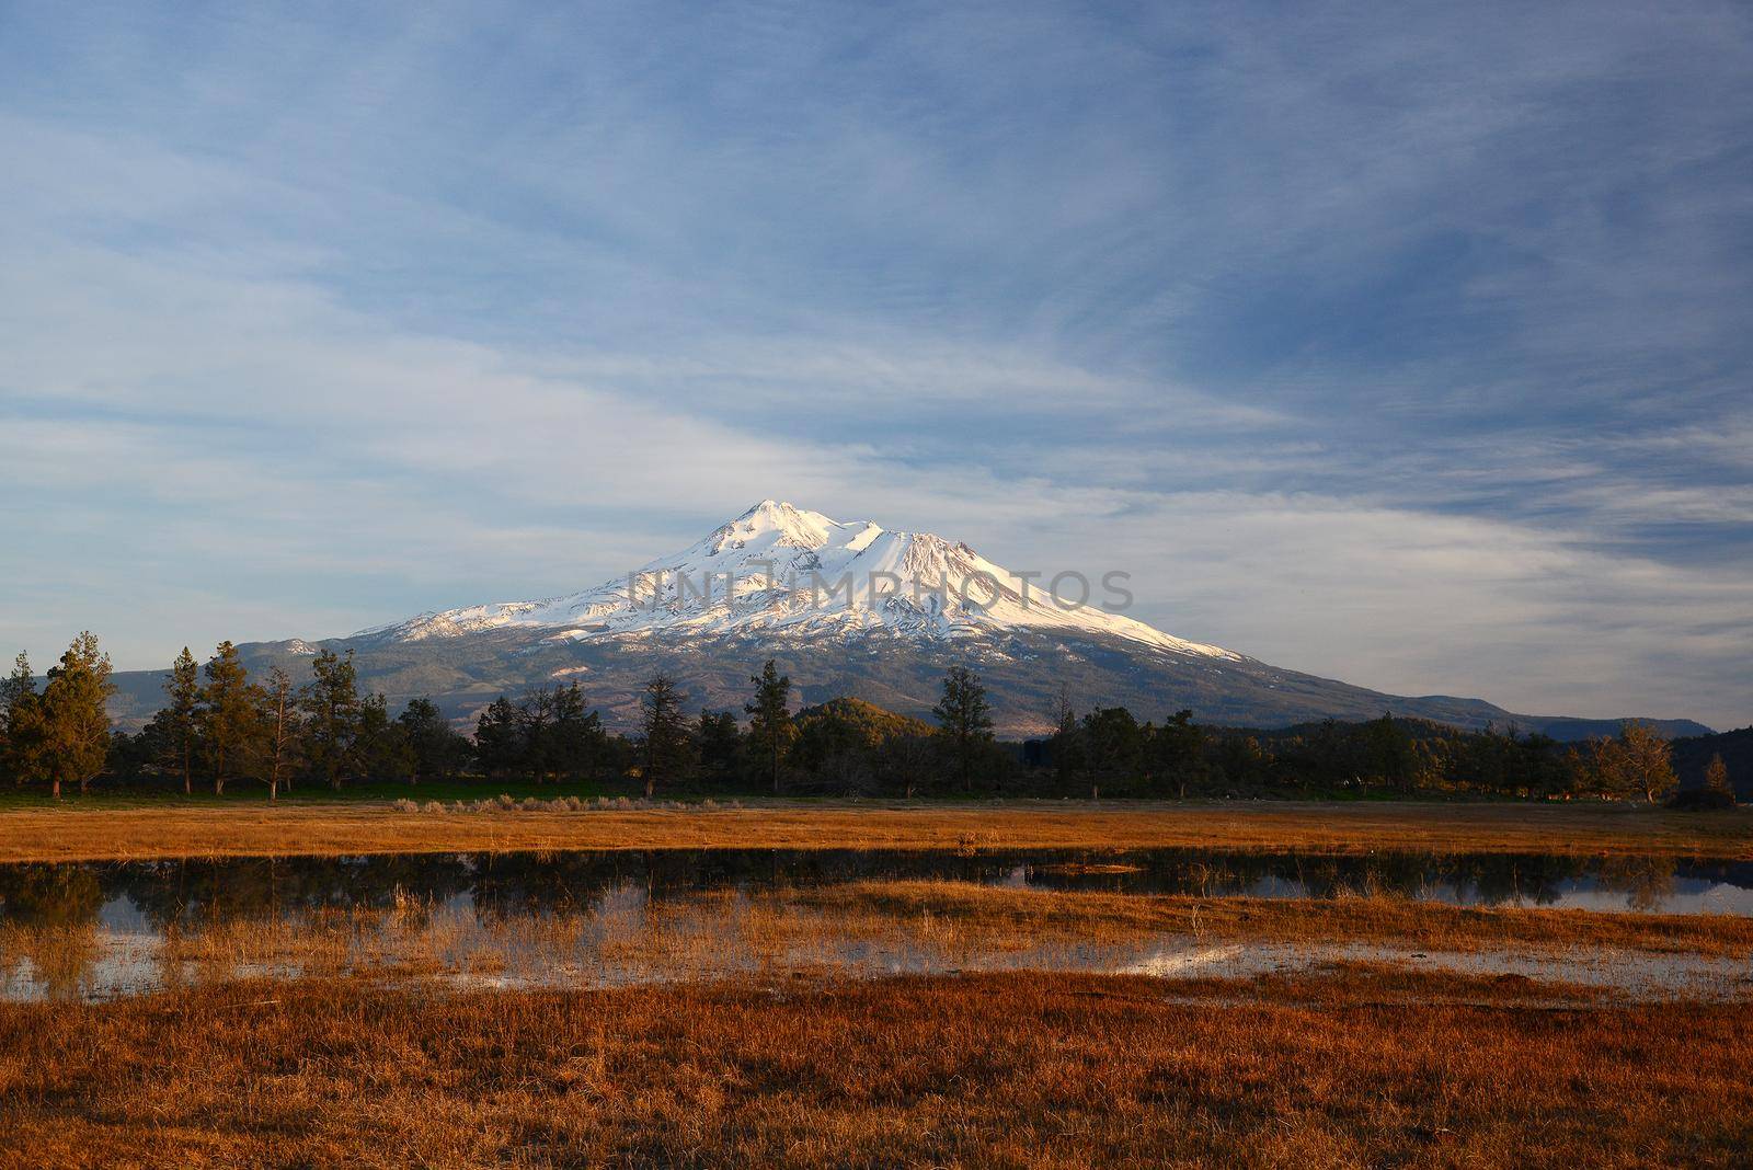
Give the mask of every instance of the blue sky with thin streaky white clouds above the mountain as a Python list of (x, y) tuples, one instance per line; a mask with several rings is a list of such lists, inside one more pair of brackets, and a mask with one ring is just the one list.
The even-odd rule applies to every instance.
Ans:
[(1753, 720), (1753, 11), (0, 2), (0, 645), (764, 496), (1402, 694)]

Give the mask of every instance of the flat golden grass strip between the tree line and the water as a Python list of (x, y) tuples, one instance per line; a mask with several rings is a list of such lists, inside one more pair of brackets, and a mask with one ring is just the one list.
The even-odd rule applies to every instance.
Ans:
[(1302, 848), (1753, 858), (1753, 813), (1530, 804), (787, 804), (400, 813), (387, 804), (0, 811), (0, 862), (657, 848)]

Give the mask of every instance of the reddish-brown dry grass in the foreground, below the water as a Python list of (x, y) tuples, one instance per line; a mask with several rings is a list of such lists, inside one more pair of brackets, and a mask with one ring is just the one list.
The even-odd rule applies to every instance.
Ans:
[[(1476, 1004), (1423, 1000), (1480, 1000)], [(0, 1004), (5, 1166), (1746, 1165), (1753, 1012), (1371, 970)]]

